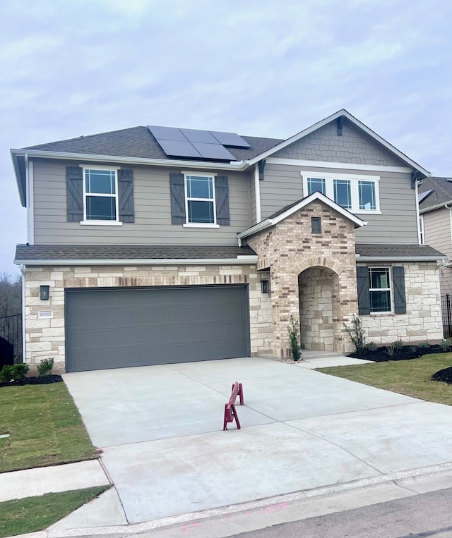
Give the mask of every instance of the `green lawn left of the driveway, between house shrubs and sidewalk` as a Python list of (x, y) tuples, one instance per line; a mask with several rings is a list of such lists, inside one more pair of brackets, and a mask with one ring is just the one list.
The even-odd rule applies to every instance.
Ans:
[(1, 434), (0, 472), (97, 457), (64, 383), (1, 387)]

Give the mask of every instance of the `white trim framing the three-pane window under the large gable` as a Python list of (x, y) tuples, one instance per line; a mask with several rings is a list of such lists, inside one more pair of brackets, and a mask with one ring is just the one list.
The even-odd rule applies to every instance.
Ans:
[[(315, 172), (315, 171), (300, 171), (300, 175), (303, 180), (303, 193), (304, 197), (308, 196), (308, 178), (324, 179), (325, 180), (325, 195), (334, 200), (334, 180), (346, 180), (350, 181), (350, 197), (351, 205), (350, 209), (344, 208), (346, 211), (350, 211), (353, 214), (371, 214), (381, 215), (380, 209), (380, 189), (379, 181), (380, 176), (367, 176), (354, 173), (331, 173), (331, 172)], [(359, 181), (369, 181), (374, 183), (375, 188), (375, 209), (359, 209)]]

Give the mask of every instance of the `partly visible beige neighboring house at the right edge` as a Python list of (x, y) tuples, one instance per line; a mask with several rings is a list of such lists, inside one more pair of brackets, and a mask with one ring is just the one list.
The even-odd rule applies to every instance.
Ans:
[(421, 243), (444, 252), (441, 294), (452, 293), (452, 178), (425, 178), (419, 187)]

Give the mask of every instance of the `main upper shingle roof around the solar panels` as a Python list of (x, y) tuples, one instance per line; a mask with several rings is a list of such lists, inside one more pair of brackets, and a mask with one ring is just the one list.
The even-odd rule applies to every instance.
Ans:
[[(227, 147), (237, 161), (252, 159), (283, 140), (279, 138), (262, 138), (243, 136), (250, 148)], [(93, 155), (110, 155), (114, 157), (138, 157), (142, 159), (173, 159), (162, 150), (155, 137), (147, 127), (138, 126), (129, 129), (110, 131), (98, 135), (81, 136), (69, 140), (59, 140), (23, 149), (40, 149), (48, 152), (80, 153)], [(182, 157), (177, 157), (182, 159)], [(193, 161), (194, 159), (189, 159)], [(201, 161), (206, 159), (199, 159)]]

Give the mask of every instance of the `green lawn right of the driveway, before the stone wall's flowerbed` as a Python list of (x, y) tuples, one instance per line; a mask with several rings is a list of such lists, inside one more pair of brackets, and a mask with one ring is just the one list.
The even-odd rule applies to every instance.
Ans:
[(335, 366), (318, 371), (413, 398), (452, 405), (452, 385), (430, 379), (432, 374), (449, 366), (452, 366), (452, 353), (439, 353), (420, 359)]

